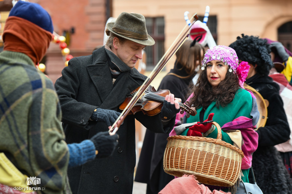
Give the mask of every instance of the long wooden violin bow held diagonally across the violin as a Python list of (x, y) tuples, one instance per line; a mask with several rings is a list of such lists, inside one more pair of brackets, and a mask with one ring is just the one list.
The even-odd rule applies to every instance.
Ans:
[[(194, 21), (191, 24), (186, 24), (183, 30), (180, 32), (180, 34), (176, 37), (172, 45), (168, 48), (168, 50), (165, 52), (165, 54), (161, 57), (157, 65), (154, 67), (152, 72), (150, 73), (149, 77), (146, 78), (144, 83), (141, 85), (141, 87), (138, 89), (138, 91), (135, 93), (133, 98), (130, 100), (130, 102), (127, 104), (123, 112), (121, 112), (120, 116), (117, 118), (117, 120), (112, 124), (112, 126), (109, 129), (109, 133), (111, 135), (114, 135), (117, 130), (119, 129), (119, 126), (115, 127), (113, 129), (113, 126), (117, 124), (117, 122), (121, 119), (121, 123), (126, 118), (127, 114), (131, 111), (131, 109), (134, 107), (135, 103), (139, 100), (140, 96), (145, 92), (147, 87), (150, 85), (150, 83), (154, 80), (154, 78), (157, 76), (157, 74), (164, 68), (168, 60), (172, 57), (173, 54), (179, 49), (180, 45), (185, 41), (187, 37), (190, 36), (190, 33), (188, 33), (192, 27), (192, 25), (199, 19), (197, 13), (195, 13), (191, 20), (194, 18)], [(141, 92), (142, 91), (142, 92)]]

